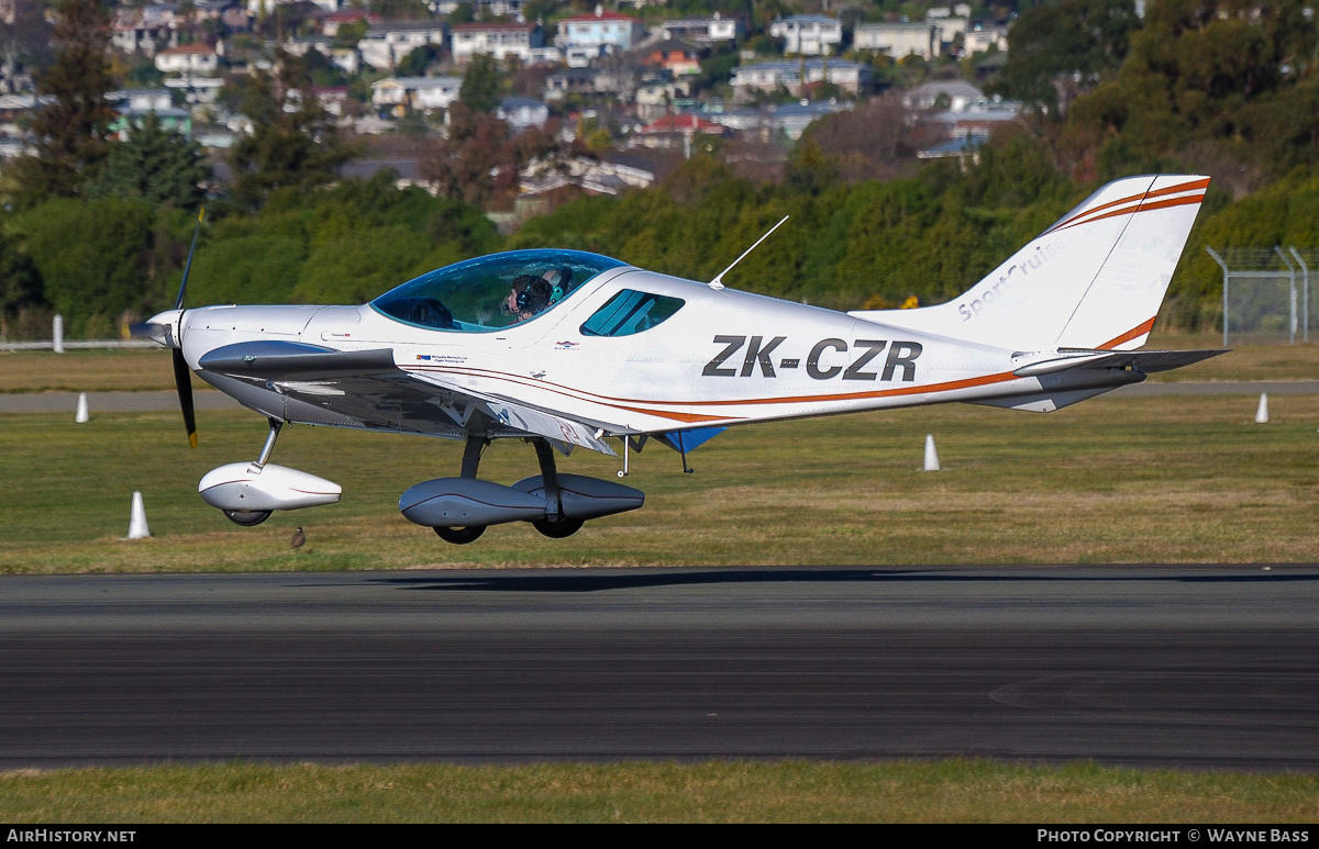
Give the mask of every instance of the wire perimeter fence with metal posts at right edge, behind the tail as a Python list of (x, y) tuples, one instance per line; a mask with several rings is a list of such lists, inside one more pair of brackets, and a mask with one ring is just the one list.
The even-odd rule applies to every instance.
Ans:
[(1223, 347), (1310, 341), (1319, 249), (1206, 248), (1223, 269)]

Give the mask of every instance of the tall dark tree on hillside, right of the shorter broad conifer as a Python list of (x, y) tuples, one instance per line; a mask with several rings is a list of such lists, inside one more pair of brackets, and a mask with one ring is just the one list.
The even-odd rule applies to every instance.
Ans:
[(232, 192), (240, 204), (259, 207), (281, 187), (306, 190), (332, 182), (339, 166), (356, 154), (340, 138), (295, 57), (281, 51), (274, 74), (243, 80), (240, 102), (252, 121), (252, 133), (230, 153)]

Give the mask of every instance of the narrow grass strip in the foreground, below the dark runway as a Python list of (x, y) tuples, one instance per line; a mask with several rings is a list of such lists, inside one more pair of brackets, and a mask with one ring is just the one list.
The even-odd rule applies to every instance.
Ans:
[(12, 823), (1314, 823), (1319, 778), (938, 763), (269, 766), (0, 774)]

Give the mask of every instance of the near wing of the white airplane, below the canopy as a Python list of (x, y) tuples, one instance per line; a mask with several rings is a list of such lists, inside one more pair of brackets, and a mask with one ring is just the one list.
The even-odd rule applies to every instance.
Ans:
[(294, 341), (248, 341), (202, 356), (202, 377), (240, 403), (274, 418), (463, 439), (474, 415), (487, 434), (543, 436), (616, 456), (598, 428), (516, 398), (483, 395), (394, 364), (393, 351), (335, 351)]

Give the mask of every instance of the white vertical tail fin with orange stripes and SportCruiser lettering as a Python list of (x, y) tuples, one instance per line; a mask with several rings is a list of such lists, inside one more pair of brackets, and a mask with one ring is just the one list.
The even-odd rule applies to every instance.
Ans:
[(1115, 181), (960, 297), (852, 315), (1018, 351), (1140, 348), (1208, 185), (1186, 174)]

